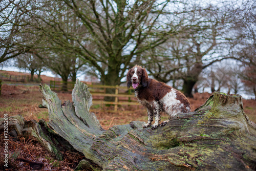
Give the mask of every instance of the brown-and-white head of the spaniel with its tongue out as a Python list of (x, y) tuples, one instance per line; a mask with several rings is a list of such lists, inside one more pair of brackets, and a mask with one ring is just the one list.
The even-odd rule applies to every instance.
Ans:
[(134, 89), (140, 86), (147, 87), (148, 84), (148, 75), (146, 73), (146, 70), (137, 65), (129, 70), (126, 79), (127, 88), (130, 88), (131, 83)]

